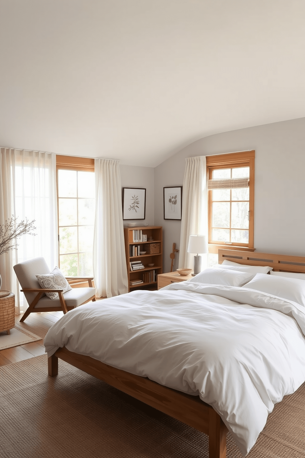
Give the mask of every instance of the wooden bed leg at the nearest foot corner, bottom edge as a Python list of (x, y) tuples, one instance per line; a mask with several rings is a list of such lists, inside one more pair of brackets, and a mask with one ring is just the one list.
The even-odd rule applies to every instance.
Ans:
[(209, 458), (225, 458), (228, 429), (214, 409), (209, 411)]

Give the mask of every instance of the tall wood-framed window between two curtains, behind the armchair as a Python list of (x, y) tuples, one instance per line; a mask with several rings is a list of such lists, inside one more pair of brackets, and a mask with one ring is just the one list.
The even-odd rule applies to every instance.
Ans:
[(59, 268), (66, 276), (93, 274), (94, 159), (57, 156)]

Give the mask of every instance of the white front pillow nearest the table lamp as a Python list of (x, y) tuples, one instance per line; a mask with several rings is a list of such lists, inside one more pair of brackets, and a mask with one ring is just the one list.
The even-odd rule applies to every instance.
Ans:
[(249, 282), (253, 276), (254, 274), (250, 272), (236, 272), (230, 269), (208, 267), (188, 281), (213, 285), (241, 286)]

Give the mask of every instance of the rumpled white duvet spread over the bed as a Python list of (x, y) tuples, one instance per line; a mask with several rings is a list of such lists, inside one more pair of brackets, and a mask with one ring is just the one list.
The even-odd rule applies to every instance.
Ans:
[(251, 289), (181, 282), (81, 305), (48, 331), (65, 346), (213, 406), (246, 455), (273, 405), (305, 381), (305, 309)]

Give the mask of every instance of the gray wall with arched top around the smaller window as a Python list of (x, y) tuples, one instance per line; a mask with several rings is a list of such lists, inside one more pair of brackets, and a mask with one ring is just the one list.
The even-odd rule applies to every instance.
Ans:
[[(163, 226), (164, 272), (180, 221), (163, 219), (163, 186), (183, 184), (185, 158), (255, 150), (254, 247), (305, 256), (305, 118), (208, 136), (155, 168), (155, 224)], [(174, 268), (178, 267), (176, 255)]]

